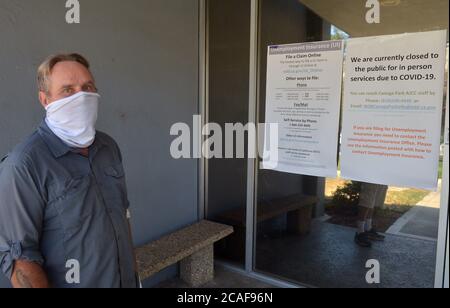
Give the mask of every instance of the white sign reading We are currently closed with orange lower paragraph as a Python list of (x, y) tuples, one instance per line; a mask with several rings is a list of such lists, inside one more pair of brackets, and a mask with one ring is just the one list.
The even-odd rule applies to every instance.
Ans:
[(435, 190), (446, 31), (348, 41), (342, 177)]

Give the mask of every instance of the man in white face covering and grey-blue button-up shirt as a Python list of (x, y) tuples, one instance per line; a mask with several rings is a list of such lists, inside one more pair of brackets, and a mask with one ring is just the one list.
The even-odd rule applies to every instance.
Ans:
[(46, 117), (0, 163), (0, 269), (17, 288), (134, 288), (135, 257), (119, 147), (96, 131), (88, 61), (38, 69)]

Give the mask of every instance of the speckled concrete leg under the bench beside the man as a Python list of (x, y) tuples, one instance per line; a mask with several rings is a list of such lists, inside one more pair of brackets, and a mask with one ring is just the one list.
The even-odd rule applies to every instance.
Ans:
[(180, 278), (190, 287), (200, 287), (214, 279), (214, 246), (208, 246), (180, 263)]

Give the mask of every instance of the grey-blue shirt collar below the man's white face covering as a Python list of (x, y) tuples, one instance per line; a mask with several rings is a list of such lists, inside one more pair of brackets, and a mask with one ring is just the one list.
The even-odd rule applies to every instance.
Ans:
[[(48, 127), (45, 120), (41, 122), (38, 132), (42, 139), (44, 139), (44, 142), (47, 144), (48, 148), (52, 152), (53, 156), (55, 156), (55, 158), (60, 158), (69, 152), (76, 151), (76, 149), (71, 148), (61, 139), (59, 139), (59, 137), (56, 136)], [(106, 143), (101, 138), (95, 138), (94, 143), (89, 147), (89, 151), (95, 154), (102, 146), (105, 145)]]

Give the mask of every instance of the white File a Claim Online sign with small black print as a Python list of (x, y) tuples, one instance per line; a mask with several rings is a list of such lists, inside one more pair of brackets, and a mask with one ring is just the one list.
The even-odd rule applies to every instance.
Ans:
[(342, 62), (342, 41), (269, 46), (266, 123), (278, 124), (279, 152), (262, 168), (336, 177)]

